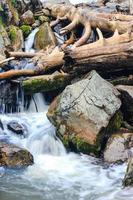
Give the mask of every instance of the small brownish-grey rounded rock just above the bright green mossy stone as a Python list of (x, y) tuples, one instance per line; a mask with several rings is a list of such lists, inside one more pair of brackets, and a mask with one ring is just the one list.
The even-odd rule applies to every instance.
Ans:
[(32, 25), (35, 22), (33, 13), (28, 10), (21, 16), (21, 22), (24, 25)]

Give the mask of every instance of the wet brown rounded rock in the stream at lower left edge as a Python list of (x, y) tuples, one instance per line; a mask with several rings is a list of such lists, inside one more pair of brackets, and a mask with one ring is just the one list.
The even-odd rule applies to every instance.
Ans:
[(33, 156), (26, 149), (0, 143), (0, 166), (22, 168), (33, 164)]

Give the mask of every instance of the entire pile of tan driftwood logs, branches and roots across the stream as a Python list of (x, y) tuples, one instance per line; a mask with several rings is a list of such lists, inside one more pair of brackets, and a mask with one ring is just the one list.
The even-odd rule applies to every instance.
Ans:
[[(115, 73), (119, 71), (130, 71), (133, 67), (133, 16), (121, 13), (97, 13), (88, 11), (83, 7), (75, 7), (65, 4), (44, 4), (43, 9), (36, 15), (47, 15), (54, 19), (51, 26), (68, 23), (61, 28), (61, 35), (68, 35), (68, 41), (65, 41), (61, 47), (56, 47), (50, 54), (46, 52), (6, 52), (7, 58), (0, 61), (0, 67), (12, 59), (33, 58), (36, 64), (35, 69), (31, 70), (9, 70), (0, 73), (0, 80), (12, 79), (20, 76), (38, 76), (36, 80), (42, 82), (49, 79), (51, 83), (51, 74), (56, 70), (62, 70), (61, 77), (66, 82), (66, 73), (69, 78), (84, 75), (90, 70), (95, 69), (100, 74)], [(78, 37), (77, 30), (83, 27), (83, 34)], [(68, 34), (69, 33), (69, 34)], [(89, 38), (95, 33), (96, 40), (89, 43)], [(110, 37), (104, 37), (109, 33)], [(72, 45), (67, 48), (67, 45)], [(44, 76), (44, 74), (46, 76)], [(48, 78), (49, 76), (49, 78)], [(60, 79), (60, 76), (58, 76)], [(24, 81), (30, 87), (33, 77), (29, 81)], [(69, 80), (70, 80), (69, 79)], [(57, 80), (57, 79), (56, 79)], [(44, 84), (45, 85), (45, 84)], [(26, 87), (26, 86), (25, 86)], [(27, 87), (26, 87), (27, 88)], [(45, 90), (45, 89), (44, 89)]]

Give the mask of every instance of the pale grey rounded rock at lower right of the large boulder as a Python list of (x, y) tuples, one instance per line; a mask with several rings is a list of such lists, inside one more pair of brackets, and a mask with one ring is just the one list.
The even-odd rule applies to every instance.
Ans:
[(133, 133), (112, 134), (104, 151), (104, 160), (109, 163), (125, 162), (133, 148)]

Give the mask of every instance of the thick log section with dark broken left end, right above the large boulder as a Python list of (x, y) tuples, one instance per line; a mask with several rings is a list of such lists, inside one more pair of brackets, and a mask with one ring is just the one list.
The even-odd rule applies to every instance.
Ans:
[(82, 46), (82, 51), (78, 48), (65, 53), (63, 70), (66, 73), (85, 74), (95, 69), (101, 74), (118, 74), (119, 70), (133, 69), (133, 41), (88, 50)]

